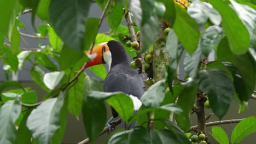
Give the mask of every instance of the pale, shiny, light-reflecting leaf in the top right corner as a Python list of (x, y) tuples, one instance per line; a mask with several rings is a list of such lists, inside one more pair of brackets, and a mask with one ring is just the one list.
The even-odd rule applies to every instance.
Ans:
[(230, 2), (250, 33), (251, 44), (253, 45), (254, 50), (256, 50), (256, 10), (248, 7), (248, 5), (238, 4), (232, 0)]

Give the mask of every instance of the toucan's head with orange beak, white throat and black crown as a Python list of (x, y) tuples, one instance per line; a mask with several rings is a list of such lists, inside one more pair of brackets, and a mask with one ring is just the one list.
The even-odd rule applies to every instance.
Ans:
[(90, 59), (86, 68), (97, 64), (107, 63), (110, 67), (118, 63), (128, 63), (126, 51), (118, 41), (110, 40), (106, 43), (97, 44), (93, 47), (92, 51), (88, 50), (85, 52), (86, 55), (96, 55)]

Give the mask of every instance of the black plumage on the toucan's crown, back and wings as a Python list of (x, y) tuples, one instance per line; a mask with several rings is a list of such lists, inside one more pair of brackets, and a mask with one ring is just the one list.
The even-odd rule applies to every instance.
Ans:
[[(107, 45), (112, 55), (112, 62), (104, 80), (104, 91), (124, 92), (140, 98), (143, 94), (143, 81), (137, 71), (130, 67), (124, 47), (114, 40), (109, 41)], [(113, 108), (112, 115), (113, 117), (118, 116)]]

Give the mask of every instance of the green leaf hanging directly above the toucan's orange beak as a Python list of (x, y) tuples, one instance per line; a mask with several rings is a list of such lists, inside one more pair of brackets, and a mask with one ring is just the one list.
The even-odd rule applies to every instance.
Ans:
[(89, 18), (86, 22), (84, 33), (84, 49), (88, 50), (97, 36), (98, 27), (95, 26), (100, 20), (97, 18)]

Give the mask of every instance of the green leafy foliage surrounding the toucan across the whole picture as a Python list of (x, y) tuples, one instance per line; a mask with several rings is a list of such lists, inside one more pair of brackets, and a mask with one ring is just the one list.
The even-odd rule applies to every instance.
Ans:
[[(28, 143), (31, 137), (38, 143), (61, 143), (67, 111), (75, 117), (83, 114), (85, 130), (94, 141), (107, 120), (105, 102), (114, 107), (124, 122), (137, 122), (137, 127), (114, 133), (108, 143), (190, 143), (189, 134), (187, 137), (185, 133), (191, 127), (190, 112), (196, 108), (200, 93), (207, 95), (219, 119), (228, 112), (232, 99), (245, 106), (251, 98), (256, 81), (255, 1), (97, 0), (106, 12), (102, 16), (107, 17), (109, 35), (98, 33), (103, 17), (89, 17), (93, 2), (0, 0), (0, 59), (5, 78), (0, 85), (0, 143)], [(43, 21), (35, 27), (38, 33), (32, 36), (49, 38), (49, 45), (19, 49), (22, 35), (18, 28), (26, 29), (20, 17), (30, 8), (33, 27), (36, 16)], [(129, 56), (137, 55), (122, 40), (130, 34), (130, 29), (120, 24), (127, 9), (134, 16), (137, 27), (133, 28), (140, 31), (143, 45), (139, 52), (160, 43), (171, 57), (166, 71), (162, 71), (162, 80), (143, 94), (136, 114), (129, 95), (102, 92), (102, 83), (79, 71), (91, 58), (84, 51), (92, 44), (117, 40)], [(156, 39), (161, 20), (167, 22), (165, 28), (172, 29), (159, 42)], [(184, 50), (187, 54), (182, 66), (189, 78), (177, 81), (177, 65)], [(207, 62), (212, 51), (217, 57), (214, 62)], [(31, 67), (25, 68), (25, 62), (30, 62)], [(9, 75), (18, 70), (30, 71), (32, 80), (47, 93), (43, 101), (38, 103), (36, 92), (30, 88), (9, 81)], [(101, 79), (107, 75), (102, 65), (90, 70)], [(169, 119), (173, 113), (177, 124)], [(255, 117), (238, 123), (231, 142), (240, 142), (254, 133), (255, 123)], [(212, 128), (212, 136), (220, 143), (229, 143), (220, 127)]]

